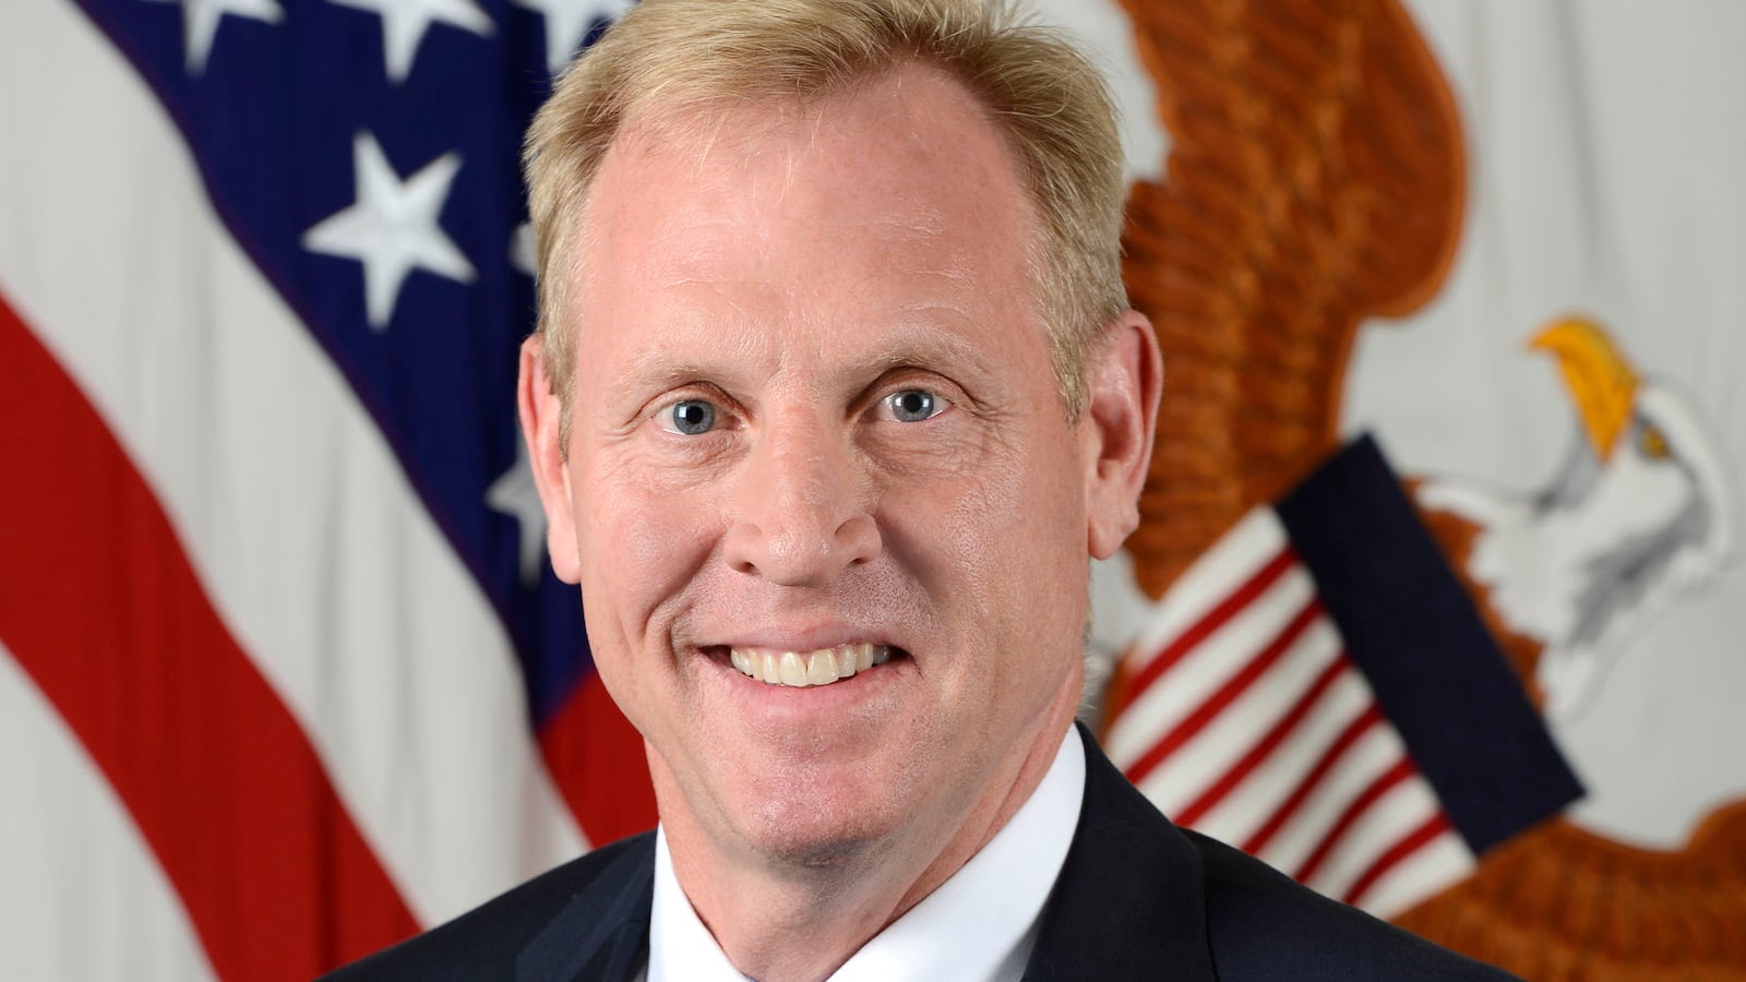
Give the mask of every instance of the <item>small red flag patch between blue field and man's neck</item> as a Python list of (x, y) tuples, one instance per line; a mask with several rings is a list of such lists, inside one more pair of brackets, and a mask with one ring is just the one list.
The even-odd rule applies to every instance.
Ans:
[(588, 678), (540, 730), (552, 781), (576, 813), (590, 846), (655, 828), (643, 734), (618, 709), (601, 676)]

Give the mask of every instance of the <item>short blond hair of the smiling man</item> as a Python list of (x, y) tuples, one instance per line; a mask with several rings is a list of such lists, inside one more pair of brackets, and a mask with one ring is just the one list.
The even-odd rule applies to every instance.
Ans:
[(960, 82), (1002, 133), (1039, 218), (1030, 266), (1070, 418), (1084, 358), (1128, 308), (1123, 173), (1096, 68), (1004, 0), (643, 0), (557, 82), (527, 131), (526, 168), (546, 370), (569, 430), (574, 332), (569, 269), (601, 161), (634, 119), (819, 100), (903, 65)]

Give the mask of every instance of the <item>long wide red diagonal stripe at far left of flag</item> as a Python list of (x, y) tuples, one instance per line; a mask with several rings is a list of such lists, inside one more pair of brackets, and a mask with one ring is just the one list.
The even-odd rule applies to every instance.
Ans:
[(126, 451), (0, 297), (0, 638), (101, 767), (220, 979), (417, 930)]

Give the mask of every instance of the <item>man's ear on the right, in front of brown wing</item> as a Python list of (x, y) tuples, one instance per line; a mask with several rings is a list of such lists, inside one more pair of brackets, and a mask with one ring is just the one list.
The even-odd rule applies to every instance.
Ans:
[(1152, 323), (1138, 311), (1123, 313), (1086, 362), (1086, 545), (1096, 559), (1114, 556), (1140, 526), (1163, 386)]

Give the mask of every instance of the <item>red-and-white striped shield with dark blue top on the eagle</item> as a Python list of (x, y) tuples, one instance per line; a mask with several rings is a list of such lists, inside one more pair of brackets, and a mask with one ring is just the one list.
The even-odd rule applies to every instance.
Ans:
[(1203, 552), (1124, 673), (1105, 750), (1165, 814), (1379, 916), (1582, 795), (1369, 439)]

